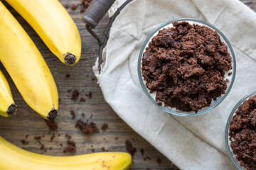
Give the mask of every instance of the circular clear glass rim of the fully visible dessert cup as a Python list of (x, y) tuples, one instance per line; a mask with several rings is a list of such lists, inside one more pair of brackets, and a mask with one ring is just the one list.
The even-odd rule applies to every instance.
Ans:
[[(141, 70), (141, 67), (142, 67), (142, 56), (143, 56), (143, 52), (144, 52), (144, 49), (146, 47), (146, 45), (148, 44), (149, 40), (152, 38), (152, 36), (154, 36), (154, 34), (161, 30), (162, 28), (164, 28), (165, 26), (168, 26), (170, 25), (171, 23), (173, 23), (174, 21), (194, 21), (194, 22), (197, 22), (197, 23), (202, 23), (203, 25), (206, 25), (208, 26), (209, 28), (213, 29), (213, 30), (217, 30), (217, 33), (220, 35), (221, 38), (223, 38), (226, 42), (226, 45), (228, 46), (228, 49), (230, 50), (230, 55), (232, 57), (232, 60), (233, 60), (233, 76), (232, 76), (232, 79), (230, 81), (230, 86), (228, 86), (228, 89), (225, 91), (225, 94), (223, 94), (223, 96), (220, 96), (220, 99), (215, 103), (213, 104), (213, 106), (210, 106), (209, 108), (206, 108), (206, 110), (203, 110), (203, 111), (198, 111), (198, 113), (187, 113), (187, 112), (176, 112), (176, 111), (171, 111), (169, 108), (166, 108), (164, 106), (159, 106), (157, 103), (156, 103), (156, 100), (154, 98), (152, 98), (152, 96), (149, 94), (149, 91), (147, 91), (146, 87), (144, 86), (144, 83), (143, 83), (143, 78), (142, 78), (142, 70)], [(146, 40), (144, 41), (143, 45), (142, 45), (142, 48), (139, 52), (139, 59), (138, 59), (138, 65), (137, 65), (137, 69), (138, 69), (138, 76), (139, 76), (139, 83), (141, 84), (142, 86), (142, 89), (144, 91), (144, 93), (146, 94), (146, 96), (148, 96), (148, 98), (159, 108), (161, 108), (161, 110), (167, 112), (167, 113), (171, 113), (172, 115), (179, 115), (179, 116), (194, 116), (194, 115), (202, 115), (203, 113), (207, 113), (208, 111), (211, 111), (213, 110), (213, 108), (217, 107), (225, 98), (226, 96), (228, 96), (230, 90), (232, 89), (232, 86), (234, 84), (234, 81), (235, 81), (235, 74), (236, 74), (236, 62), (235, 62), (235, 52), (233, 51), (233, 47), (232, 45), (230, 44), (230, 42), (228, 41), (228, 38), (225, 37), (225, 35), (218, 29), (216, 28), (215, 26), (211, 25), (210, 23), (207, 23), (206, 21), (203, 21), (201, 19), (197, 19), (197, 18), (177, 18), (177, 19), (174, 19), (174, 20), (171, 20), (171, 21), (167, 21), (166, 23), (162, 23), (160, 26), (158, 26), (157, 28), (155, 28), (146, 38)]]

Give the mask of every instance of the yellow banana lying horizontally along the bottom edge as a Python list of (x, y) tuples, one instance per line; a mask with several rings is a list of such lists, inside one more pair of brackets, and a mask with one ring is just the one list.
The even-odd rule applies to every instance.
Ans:
[(132, 158), (127, 153), (103, 152), (52, 157), (28, 152), (0, 136), (0, 169), (3, 170), (127, 170)]

